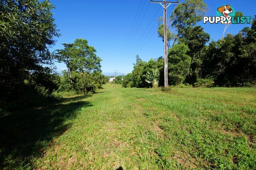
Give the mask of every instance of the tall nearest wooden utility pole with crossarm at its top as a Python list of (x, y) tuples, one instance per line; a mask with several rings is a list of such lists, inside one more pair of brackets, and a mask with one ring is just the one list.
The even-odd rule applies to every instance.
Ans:
[[(166, 23), (166, 14), (167, 14), (167, 8), (170, 4), (178, 4), (180, 3), (180, 0), (177, 0), (176, 2), (167, 2), (164, 1), (153, 1), (150, 0), (151, 3), (159, 3), (164, 7), (164, 88), (168, 88), (168, 58), (167, 58), (167, 23)], [(168, 4), (168, 5), (166, 5)]]

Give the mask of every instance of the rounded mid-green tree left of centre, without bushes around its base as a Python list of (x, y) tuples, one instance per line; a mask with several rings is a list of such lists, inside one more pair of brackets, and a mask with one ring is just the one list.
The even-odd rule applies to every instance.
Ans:
[(79, 81), (85, 94), (88, 92), (88, 87), (93, 86), (94, 82), (97, 81), (96, 75), (101, 74), (100, 62), (102, 60), (96, 56), (96, 49), (89, 46), (87, 40), (76, 39), (72, 44), (63, 45), (64, 49), (56, 50), (58, 61), (64, 62), (71, 72), (80, 73)]

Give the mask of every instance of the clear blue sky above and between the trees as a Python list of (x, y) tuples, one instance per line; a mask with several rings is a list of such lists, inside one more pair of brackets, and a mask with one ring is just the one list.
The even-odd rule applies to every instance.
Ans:
[[(102, 72), (129, 73), (133, 69), (136, 54), (144, 61), (163, 56), (163, 42), (157, 34), (157, 18), (162, 16), (160, 4), (150, 0), (51, 0), (55, 23), (61, 36), (51, 50), (62, 49), (62, 43), (72, 43), (76, 38), (88, 40), (97, 55), (102, 58)], [(182, 3), (183, 0), (180, 0)], [(244, 16), (256, 14), (255, 0), (204, 0), (208, 6), (206, 16), (216, 16), (222, 4), (230, 4)], [(175, 5), (176, 6), (176, 5)], [(168, 16), (175, 8), (168, 7)], [(140, 7), (140, 8), (139, 8)], [(172, 8), (173, 7), (173, 8)], [(137, 14), (137, 15), (136, 15)], [(137, 16), (137, 17), (136, 17)], [(135, 18), (136, 17), (136, 18)], [(211, 39), (222, 36), (221, 24), (203, 24)], [(226, 33), (237, 34), (247, 24), (233, 24)], [(56, 63), (57, 71), (66, 69), (64, 63)]]

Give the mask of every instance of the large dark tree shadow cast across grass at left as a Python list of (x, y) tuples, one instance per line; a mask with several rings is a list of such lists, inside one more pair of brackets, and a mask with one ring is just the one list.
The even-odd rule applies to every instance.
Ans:
[(21, 164), (33, 166), (32, 158), (43, 156), (53, 139), (72, 125), (67, 120), (76, 118), (82, 107), (92, 106), (90, 102), (78, 101), (89, 96), (62, 100), (68, 103), (0, 114), (0, 169), (14, 169)]

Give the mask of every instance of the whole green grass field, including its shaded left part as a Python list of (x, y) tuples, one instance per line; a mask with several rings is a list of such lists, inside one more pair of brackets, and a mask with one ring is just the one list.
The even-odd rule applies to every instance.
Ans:
[(121, 88), (0, 117), (0, 169), (256, 169), (256, 88)]

